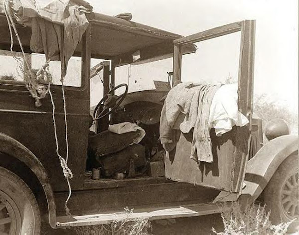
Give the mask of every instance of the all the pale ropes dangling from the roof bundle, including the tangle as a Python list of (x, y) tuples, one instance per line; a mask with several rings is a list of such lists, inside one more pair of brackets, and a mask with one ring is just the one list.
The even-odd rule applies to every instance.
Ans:
[[(10, 14), (10, 11), (7, 9), (9, 7), (9, 1), (7, 0), (3, 0), (3, 6), (4, 6), (4, 13), (5, 13), (5, 16), (6, 16), (6, 19), (7, 19), (7, 23), (8, 23), (8, 28), (9, 28), (9, 32), (10, 32), (10, 52), (11, 52), (11, 55), (12, 57), (17, 61), (18, 65), (19, 65), (19, 68), (21, 70), (21, 72), (24, 74), (24, 70), (22, 68), (22, 66), (20, 66), (20, 59), (15, 57), (14, 54), (13, 54), (13, 51), (12, 51), (12, 47), (13, 47), (13, 36), (12, 36), (12, 29), (11, 29), (11, 26), (14, 30), (14, 33), (17, 37), (17, 40), (18, 40), (18, 43), (19, 43), (19, 46), (21, 48), (21, 51), (22, 51), (22, 55), (23, 55), (23, 59), (25, 61), (25, 64), (26, 64), (26, 67), (30, 73), (30, 77), (32, 78), (32, 74), (31, 74), (31, 68), (29, 67), (29, 64), (25, 58), (25, 53), (24, 53), (24, 50), (23, 50), (23, 46), (22, 46), (22, 43), (21, 43), (21, 40), (20, 40), (20, 37), (17, 33), (17, 30), (16, 30), (16, 27), (15, 27), (15, 24), (13, 22), (13, 19), (11, 17), (11, 14)], [(43, 71), (44, 72), (44, 76), (46, 76), (46, 73), (48, 71), (46, 71), (45, 69), (48, 68), (49, 64), (48, 64), (48, 61), (46, 62), (46, 64), (38, 71)], [(67, 162), (68, 162), (68, 153), (69, 153), (69, 146), (68, 146), (68, 134), (67, 134), (67, 118), (66, 118), (66, 99), (65, 99), (65, 93), (64, 93), (64, 86), (63, 86), (63, 80), (64, 78), (61, 78), (61, 88), (62, 88), (62, 97), (63, 97), (63, 109), (64, 109), (64, 121), (65, 121), (65, 140), (66, 140), (66, 160), (59, 154), (59, 144), (58, 144), (58, 137), (57, 137), (57, 126), (56, 126), (56, 120), (55, 120), (55, 104), (54, 104), (54, 99), (53, 99), (53, 96), (52, 96), (52, 93), (51, 93), (51, 90), (50, 90), (50, 82), (48, 83), (48, 92), (49, 92), (49, 95), (50, 95), (50, 98), (51, 98), (51, 103), (52, 103), (52, 118), (53, 118), (53, 126), (54, 126), (54, 135), (55, 135), (55, 141), (56, 141), (56, 154), (60, 160), (60, 166), (63, 170), (63, 175), (64, 177), (66, 178), (66, 181), (67, 181), (67, 184), (68, 184), (68, 188), (69, 188), (69, 195), (65, 201), (65, 211), (66, 211), (66, 215), (67, 216), (71, 216), (71, 213), (70, 213), (70, 210), (69, 208), (67, 207), (67, 203), (71, 197), (71, 193), (72, 193), (72, 190), (71, 190), (71, 185), (70, 185), (70, 179), (73, 178), (73, 173), (71, 171), (71, 169), (68, 167), (67, 165)], [(35, 84), (33, 84), (34, 86)], [(31, 93), (32, 97), (35, 98), (37, 101), (39, 101), (40, 96), (38, 96), (38, 94), (36, 94), (36, 92), (32, 92), (31, 91), (31, 84), (30, 82), (28, 82), (28, 84), (26, 85), (27, 86), (27, 89), (29, 90), (29, 92)], [(37, 91), (38, 92), (38, 91)], [(42, 95), (45, 95), (42, 94)], [(36, 104), (36, 103), (35, 103)]]

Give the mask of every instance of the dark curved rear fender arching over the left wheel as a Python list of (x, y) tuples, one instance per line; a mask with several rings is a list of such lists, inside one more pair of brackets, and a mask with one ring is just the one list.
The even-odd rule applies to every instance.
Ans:
[(17, 158), (23, 162), (35, 174), (44, 190), (49, 213), (49, 224), (52, 228), (56, 227), (56, 205), (54, 194), (50, 185), (50, 179), (46, 169), (38, 158), (20, 142), (10, 136), (0, 133), (0, 152)]

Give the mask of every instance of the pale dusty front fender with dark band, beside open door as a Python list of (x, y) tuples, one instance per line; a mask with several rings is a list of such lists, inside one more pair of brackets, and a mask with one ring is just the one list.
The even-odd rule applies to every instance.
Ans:
[(280, 164), (290, 155), (298, 154), (298, 143), (298, 136), (283, 135), (265, 144), (247, 163), (245, 187), (239, 200), (255, 201)]

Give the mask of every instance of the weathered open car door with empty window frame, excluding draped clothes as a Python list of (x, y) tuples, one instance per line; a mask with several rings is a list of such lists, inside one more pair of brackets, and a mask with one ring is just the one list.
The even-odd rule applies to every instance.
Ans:
[[(235, 22), (174, 40), (173, 83), (181, 80), (183, 46), (237, 31), (241, 31), (238, 108), (251, 121), (255, 20)], [(176, 148), (166, 155), (165, 176), (180, 182), (221, 189), (225, 195), (227, 192), (239, 193), (249, 155), (250, 127), (250, 123), (243, 127), (237, 126), (216, 138), (213, 138), (211, 131), (214, 162), (201, 163), (199, 167), (188, 159), (192, 138), (188, 134), (178, 134)]]

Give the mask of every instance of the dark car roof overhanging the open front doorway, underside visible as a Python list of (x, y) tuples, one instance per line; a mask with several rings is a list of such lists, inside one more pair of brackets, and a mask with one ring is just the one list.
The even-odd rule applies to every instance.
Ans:
[[(91, 23), (91, 57), (113, 60), (114, 65), (121, 66), (133, 63), (133, 54), (138, 53), (138, 63), (154, 61), (171, 57), (173, 40), (181, 35), (150, 27), (130, 20), (100, 13), (88, 14)], [(31, 53), (31, 28), (17, 24), (17, 31), (25, 52)], [(9, 50), (10, 34), (6, 17), (0, 14), (0, 49)], [(14, 44), (18, 44), (14, 38)], [(81, 55), (82, 45), (79, 43), (74, 55)], [(20, 51), (19, 46), (14, 46)], [(183, 53), (196, 51), (196, 46), (190, 44), (184, 47)]]

